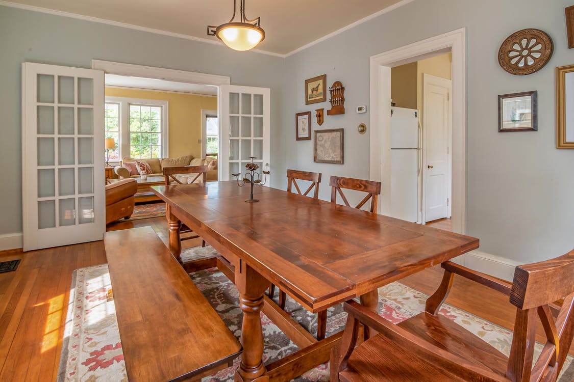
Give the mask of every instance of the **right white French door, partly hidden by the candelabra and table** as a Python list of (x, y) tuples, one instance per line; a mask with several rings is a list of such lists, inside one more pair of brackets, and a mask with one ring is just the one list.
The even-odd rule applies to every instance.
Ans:
[[(245, 165), (259, 165), (269, 171), (270, 89), (222, 85), (219, 94), (221, 139), (219, 140), (219, 180), (234, 180), (231, 174), (245, 174)], [(261, 177), (263, 180), (263, 177)], [(269, 175), (266, 186), (269, 185)]]

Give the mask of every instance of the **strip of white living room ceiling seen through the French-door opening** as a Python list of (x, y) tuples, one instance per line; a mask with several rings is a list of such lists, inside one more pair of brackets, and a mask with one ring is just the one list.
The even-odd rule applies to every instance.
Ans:
[(217, 86), (186, 84), (185, 82), (156, 80), (155, 78), (118, 76), (117, 74), (106, 74), (106, 86), (217, 96)]

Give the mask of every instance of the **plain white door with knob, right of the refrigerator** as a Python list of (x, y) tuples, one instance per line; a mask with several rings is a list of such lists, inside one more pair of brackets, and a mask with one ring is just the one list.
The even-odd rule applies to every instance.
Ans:
[(447, 218), (451, 197), (449, 160), (451, 80), (423, 74), (423, 221)]

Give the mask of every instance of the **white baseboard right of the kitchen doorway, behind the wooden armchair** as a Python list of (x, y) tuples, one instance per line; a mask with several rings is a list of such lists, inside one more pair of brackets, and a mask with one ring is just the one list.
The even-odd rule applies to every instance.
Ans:
[(514, 260), (481, 251), (470, 251), (453, 259), (453, 262), (506, 281), (512, 281), (515, 267), (521, 265)]

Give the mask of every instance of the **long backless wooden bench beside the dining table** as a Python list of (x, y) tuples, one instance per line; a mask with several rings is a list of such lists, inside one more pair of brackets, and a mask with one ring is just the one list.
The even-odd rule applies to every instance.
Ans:
[(104, 236), (130, 382), (199, 380), (242, 347), (152, 227)]

